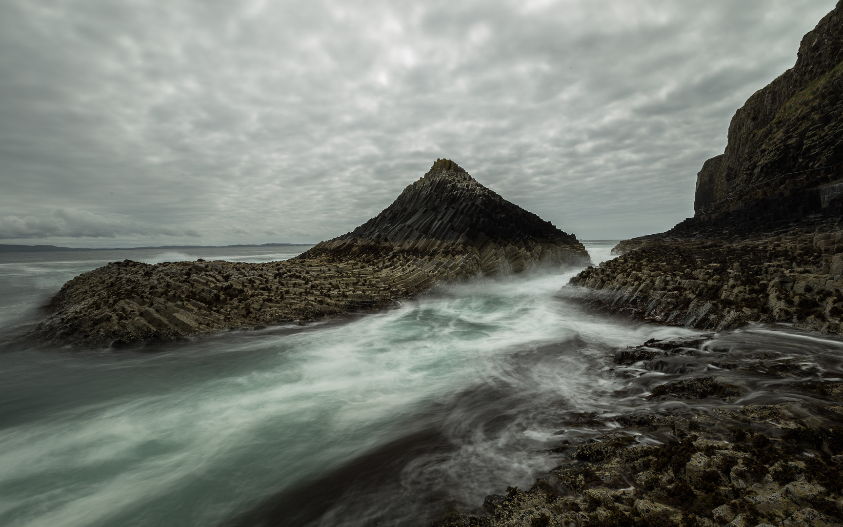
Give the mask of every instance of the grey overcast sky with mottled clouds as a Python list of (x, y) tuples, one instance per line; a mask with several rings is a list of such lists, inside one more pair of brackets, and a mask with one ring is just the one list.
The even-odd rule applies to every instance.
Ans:
[(696, 173), (834, 0), (0, 0), (0, 243), (311, 243), (438, 158), (580, 239)]

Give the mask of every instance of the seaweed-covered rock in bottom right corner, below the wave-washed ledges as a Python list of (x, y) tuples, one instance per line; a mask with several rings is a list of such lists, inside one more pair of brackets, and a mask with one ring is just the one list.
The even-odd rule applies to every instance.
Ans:
[[(770, 413), (748, 411), (743, 419), (723, 414), (720, 428), (731, 431), (727, 437), (702, 430), (688, 416), (670, 420), (675, 438), (665, 444), (606, 439), (581, 445), (534, 487), (510, 488), (506, 497), (487, 498), (485, 514), (461, 514), (463, 523), (442, 525), (474, 518), (477, 525), (511, 527), (840, 527), (843, 478), (833, 458), (843, 450), (843, 427), (811, 427), (787, 411), (773, 413), (776, 428), (770, 428)], [(641, 417), (620, 422), (638, 433), (666, 422)]]

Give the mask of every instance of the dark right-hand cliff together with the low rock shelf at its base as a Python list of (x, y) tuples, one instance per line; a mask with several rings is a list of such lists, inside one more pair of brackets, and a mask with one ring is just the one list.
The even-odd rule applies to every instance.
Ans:
[(697, 176), (695, 216), (621, 242), (572, 278), (574, 298), (647, 320), (728, 329), (781, 322), (840, 333), (843, 2), (797, 63), (737, 111)]

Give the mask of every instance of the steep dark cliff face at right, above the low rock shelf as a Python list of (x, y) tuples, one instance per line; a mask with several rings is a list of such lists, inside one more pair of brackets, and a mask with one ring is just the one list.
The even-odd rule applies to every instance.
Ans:
[(709, 159), (698, 175), (698, 221), (685, 230), (730, 214), (740, 218), (742, 211), (747, 217), (760, 214), (755, 229), (839, 213), (833, 200), (840, 196), (834, 184), (843, 178), (841, 61), (843, 3), (838, 3), (803, 37), (796, 65), (735, 113), (725, 153)]

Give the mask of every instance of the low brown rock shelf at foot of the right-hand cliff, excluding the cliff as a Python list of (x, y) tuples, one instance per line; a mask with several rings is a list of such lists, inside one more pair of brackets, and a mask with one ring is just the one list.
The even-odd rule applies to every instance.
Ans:
[(843, 232), (792, 229), (729, 241), (658, 237), (571, 279), (584, 304), (706, 330), (785, 323), (839, 334)]

